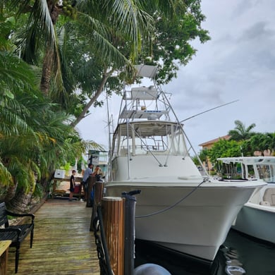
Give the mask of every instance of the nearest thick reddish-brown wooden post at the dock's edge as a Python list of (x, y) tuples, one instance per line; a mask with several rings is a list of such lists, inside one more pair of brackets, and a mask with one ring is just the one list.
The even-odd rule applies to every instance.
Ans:
[(114, 275), (124, 275), (124, 199), (102, 198), (106, 245)]

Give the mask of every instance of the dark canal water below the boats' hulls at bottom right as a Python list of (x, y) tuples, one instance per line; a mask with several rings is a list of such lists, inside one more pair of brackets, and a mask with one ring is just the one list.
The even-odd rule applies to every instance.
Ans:
[(275, 275), (275, 245), (231, 230), (210, 267), (136, 240), (135, 266), (145, 263), (159, 264), (172, 275)]

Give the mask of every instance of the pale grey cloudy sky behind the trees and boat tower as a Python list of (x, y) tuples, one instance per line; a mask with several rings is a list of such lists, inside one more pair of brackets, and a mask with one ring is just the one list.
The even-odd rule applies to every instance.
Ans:
[[(172, 94), (170, 102), (180, 121), (195, 116), (184, 122), (195, 151), (202, 149), (200, 144), (227, 135), (236, 120), (246, 127), (255, 123), (255, 132), (274, 133), (275, 1), (202, 0), (201, 8), (207, 17), (202, 27), (209, 30), (211, 40), (193, 42), (197, 49), (193, 60), (162, 87)], [(118, 97), (108, 104), (116, 126)], [(223, 104), (227, 105), (216, 108)], [(80, 136), (108, 149), (106, 106), (92, 107), (90, 113), (77, 126)]]

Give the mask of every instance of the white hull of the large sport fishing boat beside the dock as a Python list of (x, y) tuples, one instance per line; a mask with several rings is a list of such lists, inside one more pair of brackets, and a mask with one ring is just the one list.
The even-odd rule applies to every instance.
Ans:
[(211, 262), (255, 187), (196, 186), (111, 182), (106, 183), (106, 196), (141, 190), (135, 237)]

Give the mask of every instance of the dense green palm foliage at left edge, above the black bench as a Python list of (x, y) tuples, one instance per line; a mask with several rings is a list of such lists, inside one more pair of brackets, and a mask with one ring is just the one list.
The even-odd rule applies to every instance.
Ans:
[(20, 211), (37, 178), (84, 152), (68, 115), (42, 97), (37, 82), (32, 67), (0, 51), (0, 199)]

